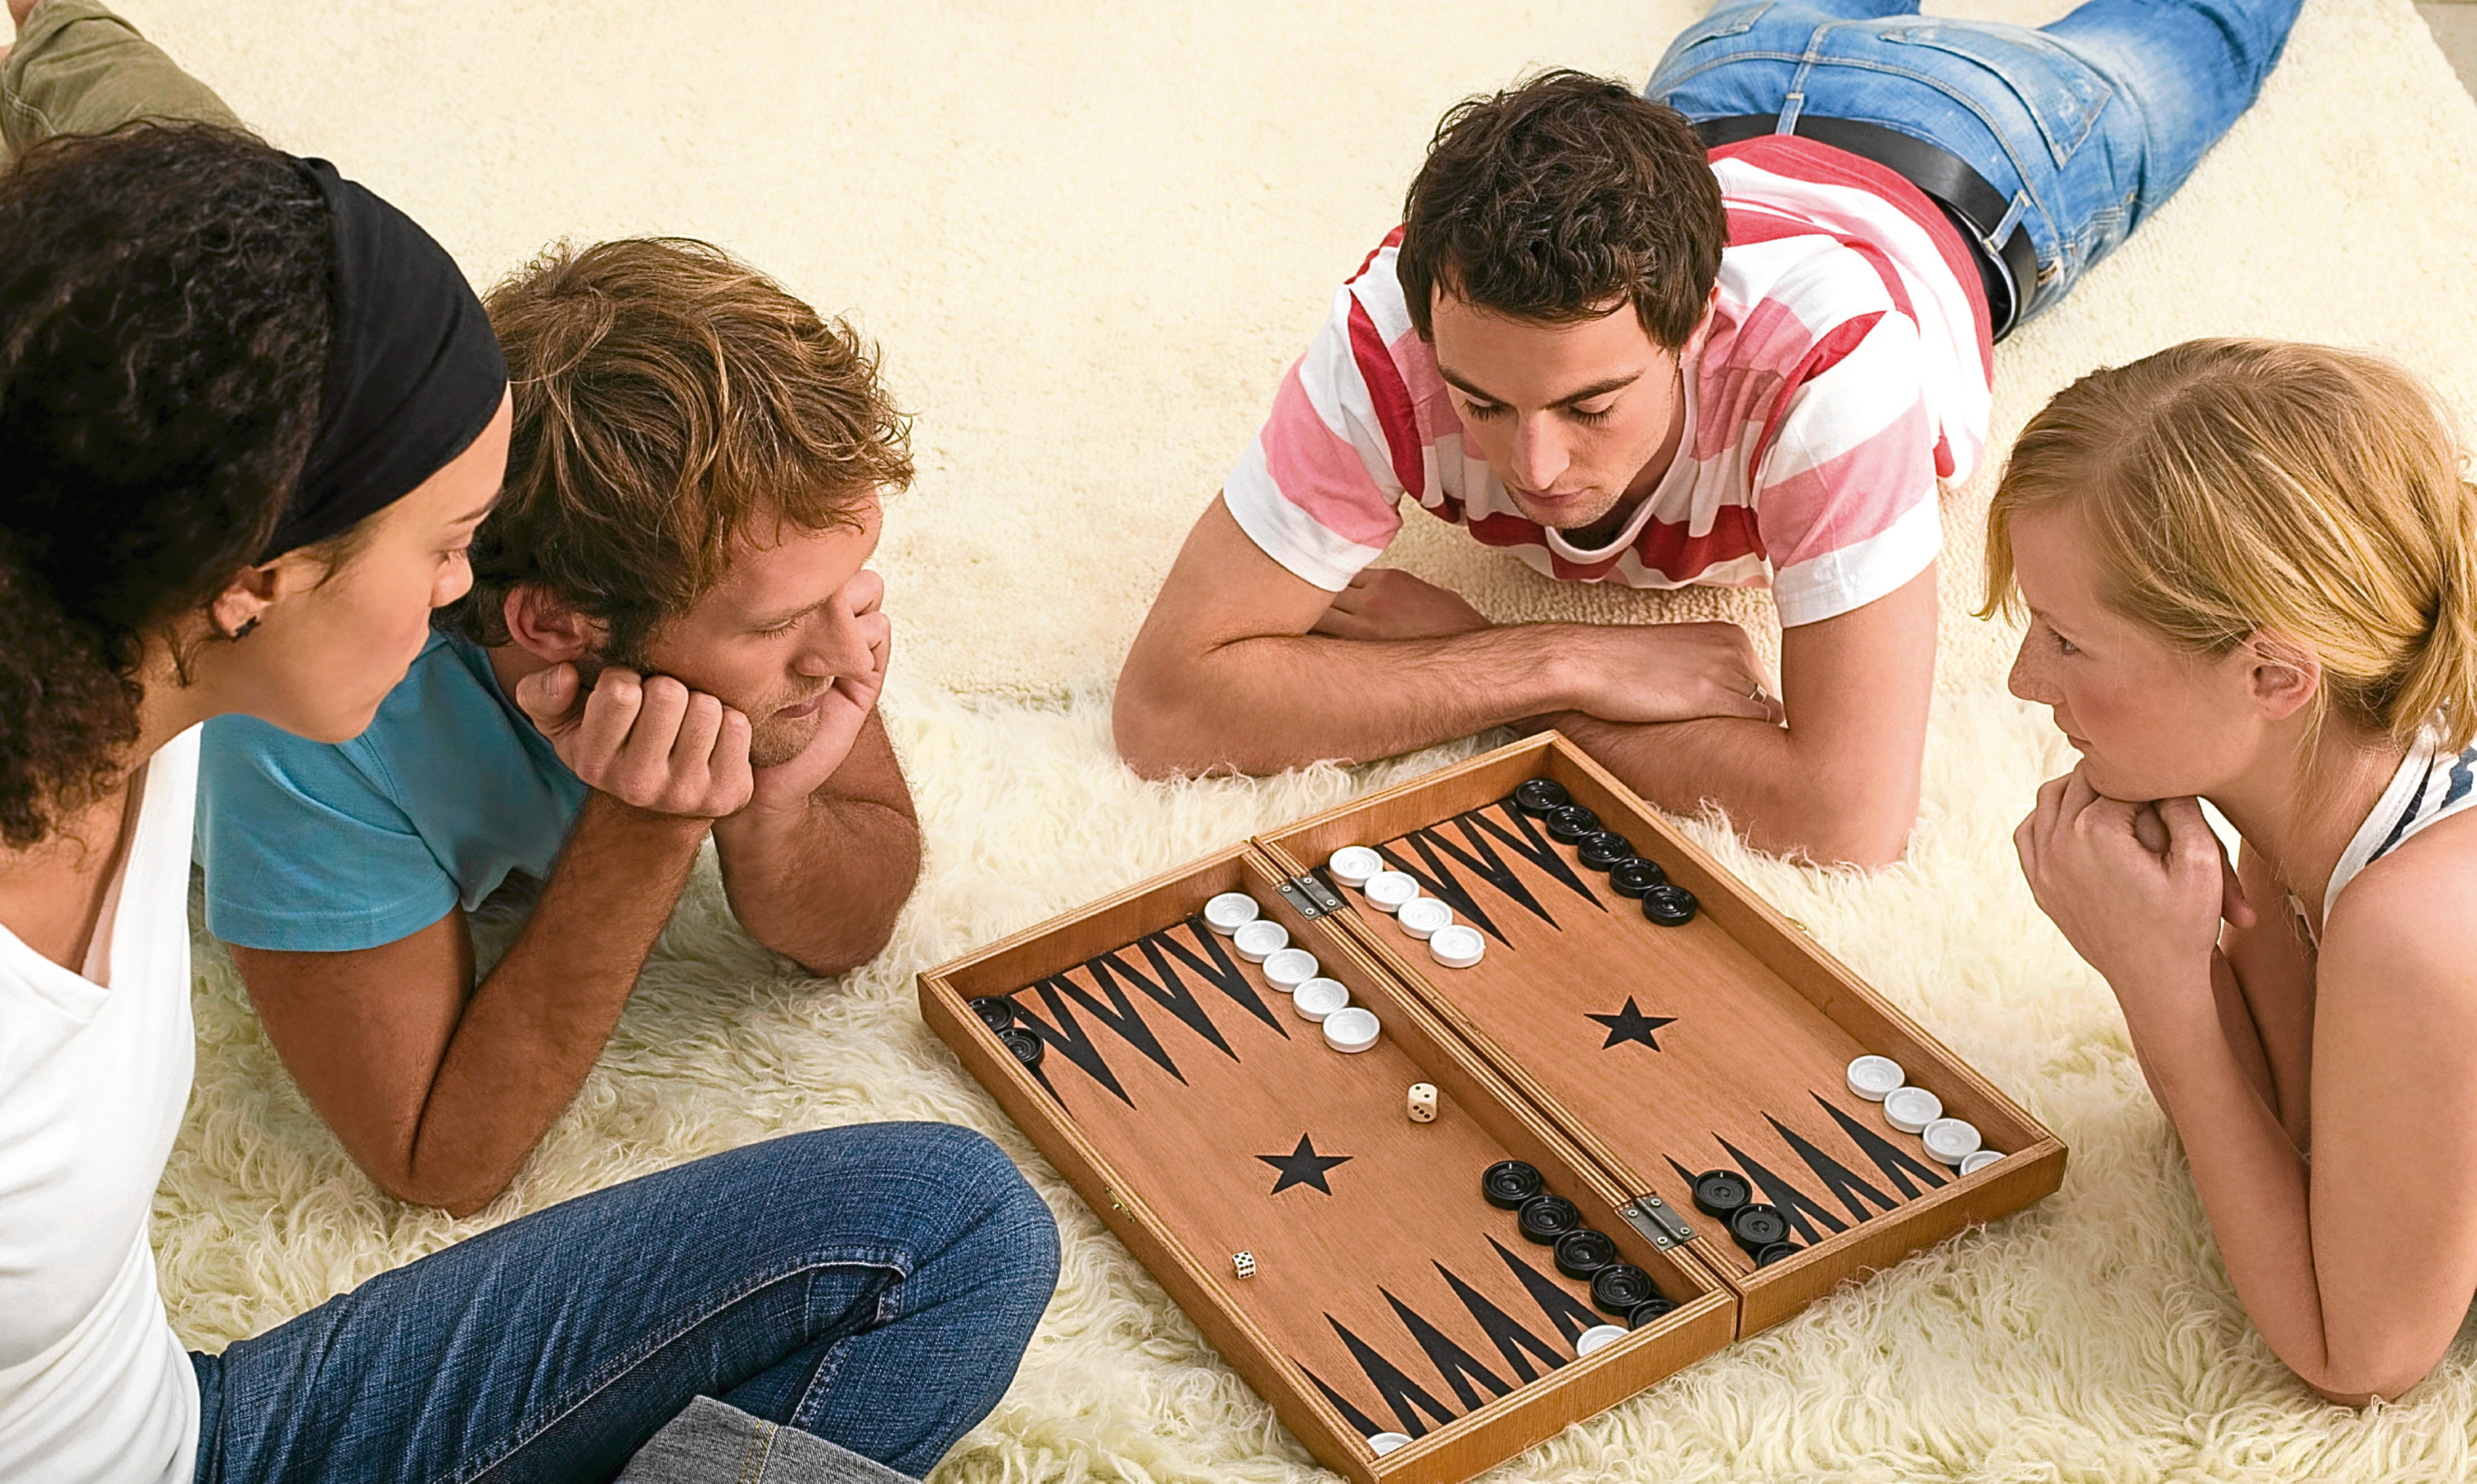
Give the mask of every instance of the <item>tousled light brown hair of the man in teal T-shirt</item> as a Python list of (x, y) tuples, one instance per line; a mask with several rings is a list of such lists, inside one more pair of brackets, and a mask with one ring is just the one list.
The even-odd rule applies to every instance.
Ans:
[(644, 647), (723, 575), (760, 513), (852, 525), (912, 483), (909, 419), (877, 352), (711, 243), (557, 245), (490, 290), (515, 421), (508, 483), (473, 535), (473, 592), (438, 622), (505, 644), (505, 597), (538, 585)]

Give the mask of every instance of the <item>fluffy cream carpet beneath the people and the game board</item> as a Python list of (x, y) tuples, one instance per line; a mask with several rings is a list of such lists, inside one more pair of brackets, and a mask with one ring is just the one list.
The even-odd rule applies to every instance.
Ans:
[[(129, 0), (243, 116), (401, 201), (478, 280), (557, 235), (713, 238), (855, 312), (921, 414), (884, 567), (887, 714), (929, 872), (894, 946), (840, 984), (788, 974), (701, 872), (575, 1110), (471, 1221), (374, 1194), (201, 946), (198, 1095), (156, 1221), (183, 1335), (220, 1345), (525, 1209), (778, 1130), (944, 1117), (1025, 1162), (1068, 1259), (1021, 1380), (941, 1482), (1320, 1477), (919, 1026), (912, 974), (1469, 751), (1144, 785), (1112, 761), (1105, 686), (1335, 280), (1392, 225), (1437, 114), (1538, 64), (1640, 79), (1697, 10)], [(2001, 347), (1996, 448), (2073, 374), (2232, 330), (2375, 347), (2477, 409), (2472, 164), (2477, 107), (2405, 0), (2314, 0), (2185, 193)], [(1984, 486), (1947, 500), (1952, 609), (1977, 597)], [(1501, 617), (1761, 614), (1558, 590), (1417, 515), (1400, 550)], [(1823, 875), (1702, 837), (2061, 1132), (2063, 1192), (1504, 1477), (2477, 1474), (2467, 1345), (2403, 1405), (2353, 1415), (2304, 1392), (2234, 1306), (2105, 986), (2011, 867), (2006, 832), (2063, 748), (2001, 694), (2009, 647), (1944, 619), (1902, 865)]]

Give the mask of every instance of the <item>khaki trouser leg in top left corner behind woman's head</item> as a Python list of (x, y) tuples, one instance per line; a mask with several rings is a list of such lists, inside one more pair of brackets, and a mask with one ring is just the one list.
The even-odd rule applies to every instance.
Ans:
[(10, 156), (52, 134), (107, 134), (131, 119), (243, 126), (213, 89), (97, 0), (42, 0), (0, 67)]

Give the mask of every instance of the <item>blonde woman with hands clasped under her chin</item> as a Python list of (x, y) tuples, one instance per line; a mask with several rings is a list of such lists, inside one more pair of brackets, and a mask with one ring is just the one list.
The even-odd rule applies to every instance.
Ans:
[(2205, 339), (2056, 396), (1987, 533), (2011, 689), (2081, 751), (2021, 870), (2115, 989), (2237, 1298), (2348, 1405), (2418, 1385), (2477, 1291), (2460, 463), (2398, 367)]

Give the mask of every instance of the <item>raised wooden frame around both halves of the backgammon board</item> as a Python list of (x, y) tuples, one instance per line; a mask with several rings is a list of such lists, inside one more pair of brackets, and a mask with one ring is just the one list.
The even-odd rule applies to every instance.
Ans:
[[(1295, 882), (1343, 845), (1380, 845), (1429, 827), (1508, 795), (1526, 778), (1556, 778), (1608, 827), (1645, 845), (1642, 855), (1660, 860), (1669, 879), (1694, 892), (1702, 919), (1778, 976), (1796, 996), (1791, 1003), (1803, 1001), (1798, 1013), (1811, 1011), (1858, 1045), (1900, 1060), (1912, 1083), (1937, 1093), (1947, 1112), (1972, 1120), (2006, 1157), (1766, 1268), (1724, 1261), (1712, 1244), (1726, 1236), (1694, 1211), (1684, 1216), (1697, 1236), (1665, 1249), (1655, 1249), (1640, 1224), (1613, 1219), (1620, 1207), (1650, 1192), (1652, 1182), (1630, 1169), (1610, 1140), (1456, 1006), (1452, 971), (1414, 961), (1350, 907), (1300, 912), (1308, 899), (1295, 892)], [(1286, 884), (1293, 884), (1291, 894), (1283, 892)], [(1097, 954), (1167, 932), (1196, 914), (1209, 897), (1231, 889), (1256, 897), (1291, 932), (1293, 944), (1308, 946), (1323, 971), (1350, 989), (1355, 1003), (1375, 1008), (1387, 1041), (1437, 1083), (1442, 1098), (1466, 1110), (1511, 1157), (1536, 1164), (1551, 1189), (1573, 1197), (1585, 1219), (1620, 1244), (1625, 1261), (1652, 1271), (1665, 1291), (1694, 1298), (1590, 1358), (1565, 1363), (1432, 1427), (1409, 1447), (1377, 1457), (1362, 1429), (1343, 1417), (1251, 1308), (1246, 1286), (1229, 1276), (1226, 1254), (1194, 1251), (1182, 1241), (1162, 1209), (1144, 1199), (1147, 1172), (1112, 1162), (1063, 1100), (1018, 1065), (969, 1006), (976, 996), (1023, 991)], [(1553, 731), (1328, 810), (929, 969), (919, 976), (919, 1001), (929, 1028), (996, 1095), (1206, 1340), (1273, 1405), (1308, 1452), (1357, 1484), (1459, 1484), (1734, 1338), (1781, 1323), (1831, 1288), (1972, 1224), (2019, 1211), (2063, 1182), (2061, 1140)]]

